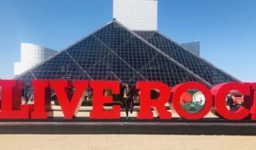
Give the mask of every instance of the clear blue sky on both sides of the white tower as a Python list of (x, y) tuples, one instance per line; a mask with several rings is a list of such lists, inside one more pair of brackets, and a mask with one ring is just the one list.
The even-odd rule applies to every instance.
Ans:
[[(112, 20), (112, 0), (0, 0), (0, 78), (13, 78), (20, 43), (68, 45)], [(159, 0), (159, 31), (201, 41), (201, 56), (243, 82), (256, 81), (255, 0)]]

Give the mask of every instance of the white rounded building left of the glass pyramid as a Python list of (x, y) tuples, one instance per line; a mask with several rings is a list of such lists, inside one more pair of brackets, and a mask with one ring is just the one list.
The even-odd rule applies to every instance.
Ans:
[(49, 57), (55, 55), (57, 51), (43, 48), (32, 43), (20, 44), (20, 62), (15, 62), (15, 76), (26, 72), (40, 62), (46, 61)]

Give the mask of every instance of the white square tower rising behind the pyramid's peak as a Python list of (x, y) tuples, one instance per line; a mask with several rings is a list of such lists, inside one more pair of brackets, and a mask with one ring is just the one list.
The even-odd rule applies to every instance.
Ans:
[(113, 18), (134, 31), (156, 31), (157, 5), (157, 0), (113, 0)]

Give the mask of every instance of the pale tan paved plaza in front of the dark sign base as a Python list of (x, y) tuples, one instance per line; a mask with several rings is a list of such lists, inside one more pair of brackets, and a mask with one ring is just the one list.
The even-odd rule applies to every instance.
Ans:
[(4, 150), (254, 150), (256, 136), (0, 135)]

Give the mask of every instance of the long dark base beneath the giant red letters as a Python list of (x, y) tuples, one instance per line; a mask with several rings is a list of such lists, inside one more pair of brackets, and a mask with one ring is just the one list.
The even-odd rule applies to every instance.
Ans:
[(0, 134), (158, 134), (158, 135), (240, 135), (256, 136), (256, 122), (204, 118), (172, 120), (91, 120), (50, 118), (47, 120), (1, 120)]

